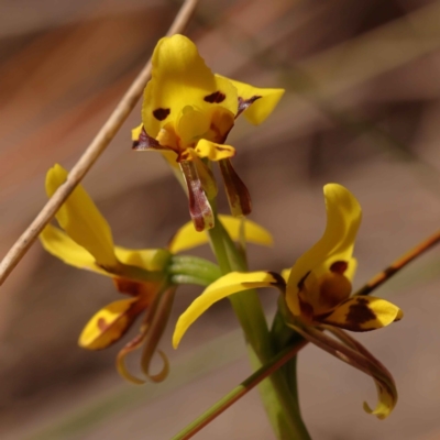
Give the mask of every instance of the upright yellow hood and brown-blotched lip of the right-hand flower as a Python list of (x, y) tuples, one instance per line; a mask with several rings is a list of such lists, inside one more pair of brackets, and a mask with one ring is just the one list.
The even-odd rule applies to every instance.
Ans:
[(324, 186), (327, 228), (290, 270), (286, 301), (294, 316), (306, 322), (327, 323), (351, 331), (388, 326), (403, 311), (385, 299), (350, 297), (356, 260), (352, 256), (362, 210), (343, 186)]

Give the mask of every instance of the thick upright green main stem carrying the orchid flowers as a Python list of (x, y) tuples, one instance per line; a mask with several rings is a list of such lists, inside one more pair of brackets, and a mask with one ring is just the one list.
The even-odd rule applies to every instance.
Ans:
[[(215, 208), (216, 204), (212, 206)], [(245, 258), (218, 220), (217, 212), (215, 224), (208, 232), (221, 272), (223, 274), (231, 271), (246, 272)], [(260, 298), (256, 292), (251, 289), (232, 295), (230, 300), (249, 342), (252, 365), (258, 370), (276, 353)], [(274, 373), (271, 381), (264, 381), (260, 392), (278, 439), (310, 439), (300, 417), (296, 396), (290, 393), (282, 372)]]

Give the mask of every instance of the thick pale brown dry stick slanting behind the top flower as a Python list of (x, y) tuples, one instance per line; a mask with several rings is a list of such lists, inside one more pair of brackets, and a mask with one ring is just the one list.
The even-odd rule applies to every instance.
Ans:
[[(183, 32), (193, 15), (198, 0), (185, 0), (179, 12), (174, 19), (167, 35)], [(122, 97), (117, 108), (110, 114), (107, 122), (91, 141), (87, 150), (79, 157), (78, 162), (72, 168), (67, 180), (63, 184), (53, 197), (43, 207), (34, 221), (28, 227), (23, 234), (16, 240), (9, 250), (2, 262), (0, 263), (0, 285), (3, 284), (8, 275), (19, 264), (20, 260), (29, 251), (33, 242), (38, 237), (44, 227), (52, 220), (59, 207), (66, 201), (75, 187), (81, 182), (87, 172), (91, 168), (98, 157), (102, 154), (110, 141), (118, 133), (122, 123), (125, 121), (130, 112), (133, 110), (140, 99), (146, 81), (151, 77), (152, 64), (151, 58), (145, 67), (138, 75), (129, 90)]]

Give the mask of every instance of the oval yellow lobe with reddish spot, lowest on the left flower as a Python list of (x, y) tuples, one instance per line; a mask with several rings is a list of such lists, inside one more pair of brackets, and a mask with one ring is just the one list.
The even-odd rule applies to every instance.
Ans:
[(139, 298), (120, 299), (99, 310), (87, 322), (78, 344), (87, 350), (102, 350), (118, 341), (143, 310)]

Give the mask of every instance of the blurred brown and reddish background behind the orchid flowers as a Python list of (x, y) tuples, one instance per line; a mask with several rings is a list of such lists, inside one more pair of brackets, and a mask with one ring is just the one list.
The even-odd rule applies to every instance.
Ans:
[[(73, 166), (178, 8), (0, 0), (0, 255), (44, 205), (46, 170)], [(274, 249), (250, 249), (252, 268), (280, 271), (315, 243), (329, 182), (350, 188), (364, 210), (356, 286), (440, 227), (439, 23), (440, 1), (200, 1), (187, 34), (207, 64), (287, 90), (262, 127), (240, 120), (230, 136), (253, 196), (251, 218), (275, 237)], [(139, 122), (138, 106), (84, 185), (118, 244), (163, 246), (188, 220), (187, 202), (158, 154), (131, 151)], [(300, 402), (314, 439), (440, 438), (439, 268), (433, 250), (381, 288), (405, 319), (359, 336), (395, 375), (399, 403), (387, 420), (362, 410), (376, 398), (370, 378), (304, 349)], [(172, 360), (168, 380), (135, 387), (113, 366), (124, 342), (102, 352), (76, 344), (91, 315), (119, 298), (111, 282), (35, 243), (1, 287), (0, 438), (170, 438), (250, 374), (228, 301), (173, 351), (173, 322), (199, 293), (178, 290), (161, 344)], [(262, 300), (272, 316), (276, 295), (263, 292)], [(273, 435), (254, 391), (196, 438)]]

